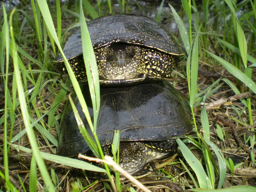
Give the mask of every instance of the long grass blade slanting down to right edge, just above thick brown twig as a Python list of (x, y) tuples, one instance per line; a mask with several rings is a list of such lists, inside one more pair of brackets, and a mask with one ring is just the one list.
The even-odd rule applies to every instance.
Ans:
[(243, 72), (241, 72), (239, 69), (225, 61), (224, 59), (218, 57), (217, 55), (214, 55), (213, 53), (204, 50), (207, 52), (212, 58), (217, 60), (229, 73), (231, 73), (233, 76), (237, 77), (240, 81), (242, 81), (244, 84), (246, 84), (253, 92), (256, 93), (256, 84)]

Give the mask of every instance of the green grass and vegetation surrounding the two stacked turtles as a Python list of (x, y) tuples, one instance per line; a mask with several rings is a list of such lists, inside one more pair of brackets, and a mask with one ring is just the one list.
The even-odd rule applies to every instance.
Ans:
[[(115, 184), (107, 164), (104, 170), (77, 159), (54, 155), (58, 146), (56, 133), (60, 128), (58, 120), (61, 118), (61, 111), (59, 108), (63, 107), (63, 101), (68, 100), (66, 95), (72, 83), (72, 88), (79, 98), (96, 142), (88, 136), (84, 138), (89, 143), (93, 154), (104, 159), (96, 136), (96, 119), (100, 106), (99, 77), (92, 44), (88, 43), (91, 41), (85, 20), (116, 11), (132, 12), (131, 5), (125, 0), (117, 1), (118, 8), (113, 6), (114, 1), (108, 0), (104, 3), (98, 0), (97, 2), (93, 5), (87, 0), (76, 0), (74, 6), (70, 7), (68, 3), (60, 4), (59, 0), (51, 6), (46, 1), (31, 0), (29, 7), (7, 11), (3, 6), (1, 10), (3, 17), (0, 20), (0, 85), (4, 85), (4, 100), (1, 101), (4, 103), (4, 109), (0, 108), (0, 114), (3, 115), (0, 117), (0, 130), (3, 130), (3, 134), (2, 132), (0, 134), (0, 140), (3, 143), (0, 146), (0, 157), (3, 156), (4, 165), (2, 166), (1, 160), (0, 191), (20, 191), (20, 189), (31, 192), (39, 189), (58, 191), (64, 183), (66, 183), (65, 187), (66, 185), (72, 186), (73, 191), (82, 191), (97, 183), (84, 182), (87, 180), (84, 170), (106, 172), (114, 191), (124, 188), (124, 185), (120, 183), (118, 173), (116, 173)], [(214, 101), (213, 94), (215, 100), (218, 99), (217, 95), (227, 97), (225, 94), (230, 90), (236, 95), (243, 92), (256, 93), (256, 0), (245, 0), (238, 4), (236, 0), (203, 2), (203, 18), (199, 17), (200, 7), (194, 0), (192, 2), (182, 0), (182, 8), (179, 11), (169, 5), (168, 11), (168, 15), (172, 15), (178, 25), (178, 34), (187, 52), (186, 69), (181, 65), (177, 68), (178, 71), (173, 71), (173, 84), (181, 83), (184, 87), (188, 86), (195, 134), (182, 138), (183, 140), (177, 139), (184, 159), (182, 156), (179, 160), (176, 158), (172, 166), (178, 164), (181, 173), (169, 174), (166, 171), (162, 173), (167, 173), (165, 177), (181, 184), (181, 187), (195, 188), (194, 191), (198, 191), (197, 188), (204, 189), (200, 191), (220, 189), (224, 187), (224, 180), (228, 180), (227, 176), (230, 176), (228, 182), (231, 185), (241, 184), (234, 180), (236, 168), (255, 169), (255, 153), (253, 152), (255, 150), (255, 97), (240, 98), (239, 104), (232, 103), (228, 107), (221, 106), (220, 109), (209, 110), (210, 114), (207, 112), (205, 103)], [(159, 9), (156, 11), (156, 20), (160, 22), (161, 15), (167, 12), (163, 9), (164, 4), (166, 2), (162, 1), (157, 5)], [(133, 6), (141, 10), (139, 4)], [(30, 7), (32, 12), (29, 11)], [(238, 13), (241, 14), (240, 17), (237, 16)], [(78, 26), (81, 26), (84, 58), (88, 58), (84, 62), (90, 84), (94, 123), (90, 119), (75, 75), (61, 49), (67, 29), (76, 26), (74, 25), (76, 22)], [(52, 58), (56, 56), (57, 51), (62, 54), (68, 70), (68, 77), (64, 76), (63, 79), (52, 67)], [(200, 67), (213, 73), (220, 72), (221, 75), (215, 79), (204, 78), (198, 72)], [(216, 93), (218, 90), (220, 94)], [(69, 99), (72, 103), (70, 97)], [(76, 113), (75, 108), (73, 110), (80, 131), (83, 135), (88, 135), (84, 125), (79, 123), (79, 114)], [(232, 127), (232, 124), (227, 126), (220, 119), (217, 121), (218, 115), (230, 120), (232, 124), (237, 124), (238, 127), (244, 127), (241, 130), (254, 133), (254, 135), (249, 135), (246, 134), (247, 132), (241, 132), (242, 136), (239, 135), (240, 138), (244, 137), (242, 143), (249, 146), (247, 147), (249, 151), (243, 146), (242, 148), (239, 145), (236, 147), (237, 151), (243, 151), (242, 155), (248, 157), (242, 163), (234, 163), (228, 157), (225, 140), (227, 137), (234, 137), (233, 133), (230, 136), (231, 131), (227, 129), (227, 127)], [(118, 162), (119, 154), (118, 145), (119, 134), (116, 133), (112, 145), (116, 162)], [(232, 153), (236, 150), (230, 151)], [(200, 156), (195, 156), (193, 151), (200, 153)], [(32, 155), (28, 159), (23, 156), (25, 153)], [(11, 172), (14, 164), (13, 156), (16, 156), (20, 162), (16, 164), (17, 169), (24, 169), (23, 171)], [(57, 165), (53, 162), (81, 169), (84, 177), (76, 178), (70, 184), (67, 179), (70, 170), (62, 168), (64, 171), (60, 173), (59, 168), (58, 171), (55, 169)], [(181, 179), (181, 176), (185, 180)], [(226, 184), (225, 187), (227, 186)], [(104, 187), (111, 188), (107, 182), (104, 182)], [(134, 188), (129, 187), (127, 190), (134, 191)], [(255, 188), (235, 186), (225, 189), (225, 191), (233, 190), (255, 191)]]

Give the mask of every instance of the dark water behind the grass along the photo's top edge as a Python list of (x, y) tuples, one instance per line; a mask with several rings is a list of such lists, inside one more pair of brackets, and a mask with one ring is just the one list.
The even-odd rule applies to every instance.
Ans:
[[(47, 2), (49, 2), (48, 3), (49, 6), (52, 6), (52, 7), (55, 6), (55, 0), (49, 0)], [(60, 0), (60, 2), (62, 4), (65, 3), (67, 5), (68, 9), (74, 11), (75, 0)], [(155, 1), (155, 0), (137, 0), (137, 1), (127, 0), (127, 1), (125, 1), (125, 12), (132, 13), (132, 14), (138, 14), (138, 15), (144, 15), (144, 16), (147, 16), (147, 17), (155, 20), (161, 2), (162, 2), (162, 0), (157, 0), (157, 1)], [(195, 2), (196, 2), (196, 9), (199, 12), (199, 18), (202, 21), (202, 23), (204, 23), (204, 17), (203, 17), (203, 11), (202, 11), (202, 1), (196, 0)], [(238, 1), (238, 3), (240, 3), (240, 2), (242, 2), (242, 1)], [(106, 13), (109, 12), (107, 3), (108, 3), (107, 0), (101, 1), (102, 15), (105, 15)], [(29, 7), (30, 0), (0, 0), (0, 9), (2, 9), (3, 4), (5, 5), (7, 12), (10, 12), (14, 7), (17, 7), (17, 8), (22, 8), (24, 6)], [(171, 4), (174, 7), (176, 12), (178, 12), (178, 13), (180, 12), (180, 17), (183, 20), (185, 26), (188, 28), (188, 20), (183, 11), (182, 4), (181, 4), (180, 0), (169, 0), (169, 1), (165, 0), (164, 1), (163, 10), (161, 12), (160, 23), (164, 28), (166, 28), (171, 33), (179, 34), (178, 27), (177, 27), (177, 24), (176, 24), (173, 16), (172, 16), (172, 12), (169, 7), (169, 4)], [(95, 8), (95, 10), (98, 9), (97, 0), (92, 1), (92, 6)], [(217, 31), (221, 31), (221, 26), (223, 26), (224, 23), (227, 20), (229, 20), (230, 15), (228, 15), (228, 14), (226, 15), (226, 21), (217, 20), (218, 17), (216, 17), (216, 15), (218, 15), (219, 13), (216, 12), (214, 1), (209, 5), (208, 10), (210, 10), (208, 24), (212, 28), (212, 26), (214, 24), (216, 24), (216, 22), (218, 22), (218, 24), (220, 24), (220, 29)], [(240, 9), (239, 11), (242, 13), (246, 12), (246, 10), (243, 10), (243, 9)], [(117, 1), (112, 1), (112, 12), (122, 12), (121, 7), (117, 3)], [(238, 18), (241, 17), (240, 12), (237, 12)], [(1, 19), (1, 17), (2, 17), (2, 11), (0, 12), (0, 19)], [(194, 13), (192, 13), (192, 20), (193, 20), (193, 18), (194, 18)]]

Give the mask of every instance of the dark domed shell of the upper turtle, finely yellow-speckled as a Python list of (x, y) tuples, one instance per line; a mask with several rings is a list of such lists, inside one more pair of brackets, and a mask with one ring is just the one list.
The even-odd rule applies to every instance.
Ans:
[[(112, 43), (138, 44), (160, 52), (184, 56), (184, 52), (165, 28), (156, 21), (141, 15), (116, 14), (99, 17), (87, 22), (94, 49)], [(82, 54), (81, 33), (78, 29), (66, 42), (63, 52), (69, 60)], [(59, 54), (55, 61), (62, 61)]]

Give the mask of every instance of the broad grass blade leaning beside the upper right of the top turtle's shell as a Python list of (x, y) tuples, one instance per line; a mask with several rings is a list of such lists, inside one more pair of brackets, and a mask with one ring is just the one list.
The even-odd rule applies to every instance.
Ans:
[(172, 7), (172, 5), (169, 4), (169, 6), (172, 10), (172, 14), (174, 16), (174, 19), (175, 19), (175, 21), (176, 21), (176, 23), (179, 27), (180, 36), (182, 38), (185, 49), (186, 49), (187, 53), (189, 54), (189, 52), (190, 52), (190, 40), (189, 40), (189, 36), (188, 36), (188, 31), (187, 31), (183, 21), (180, 19), (180, 16), (175, 11), (175, 9)]

